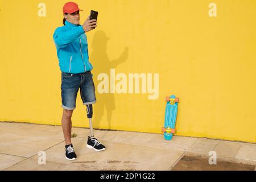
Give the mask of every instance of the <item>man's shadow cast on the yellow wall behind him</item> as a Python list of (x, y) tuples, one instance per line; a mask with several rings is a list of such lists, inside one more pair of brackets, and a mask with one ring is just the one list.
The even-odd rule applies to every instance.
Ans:
[[(97, 85), (102, 80), (97, 80), (97, 77), (100, 73), (106, 73), (109, 76), (110, 80), (110, 69), (117, 68), (119, 64), (124, 63), (128, 58), (129, 48), (125, 47), (124, 51), (121, 53), (118, 59), (109, 60), (108, 53), (106, 52), (108, 40), (110, 38), (106, 36), (104, 31), (97, 31), (92, 40), (92, 54), (89, 57), (90, 63), (93, 65), (93, 81), (96, 89), (96, 104), (94, 107), (93, 115), (93, 127), (99, 129), (100, 123), (104, 112), (106, 111), (107, 120), (108, 120), (108, 129), (111, 129), (111, 119), (112, 112), (115, 110), (115, 97), (113, 93), (103, 93), (100, 94), (97, 92)], [(110, 81), (109, 81), (110, 84)], [(109, 85), (110, 88), (110, 85)]]

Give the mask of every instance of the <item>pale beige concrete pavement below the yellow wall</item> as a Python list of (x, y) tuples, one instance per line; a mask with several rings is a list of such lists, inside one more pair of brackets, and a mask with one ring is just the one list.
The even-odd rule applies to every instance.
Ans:
[[(69, 161), (64, 157), (61, 126), (0, 122), (0, 170), (211, 169), (209, 151), (217, 154), (214, 170), (251, 170), (256, 166), (254, 143), (179, 136), (167, 141), (162, 134), (94, 130), (94, 137), (106, 146), (105, 151), (96, 152), (86, 148), (89, 129), (73, 127), (72, 133), (77, 134), (72, 138), (77, 160)], [(46, 152), (46, 164), (38, 163), (40, 151)], [(201, 160), (207, 168), (189, 167)]]

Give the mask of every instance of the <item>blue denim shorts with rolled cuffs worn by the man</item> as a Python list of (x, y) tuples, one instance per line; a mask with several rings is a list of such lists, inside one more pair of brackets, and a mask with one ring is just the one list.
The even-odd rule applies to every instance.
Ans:
[(90, 71), (77, 74), (61, 72), (61, 100), (64, 109), (74, 110), (76, 108), (79, 88), (82, 104), (89, 105), (96, 102), (95, 87)]

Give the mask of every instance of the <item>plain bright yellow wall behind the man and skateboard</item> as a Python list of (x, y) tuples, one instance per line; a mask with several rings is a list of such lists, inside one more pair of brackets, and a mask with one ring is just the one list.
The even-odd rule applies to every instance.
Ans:
[[(38, 15), (41, 2), (45, 17)], [(61, 125), (52, 34), (65, 2), (0, 0), (0, 121)], [(116, 75), (159, 73), (156, 100), (148, 93), (97, 90), (94, 127), (160, 133), (164, 98), (176, 94), (176, 135), (256, 142), (256, 1), (76, 2), (84, 10), (80, 23), (91, 9), (99, 11), (98, 27), (86, 33), (96, 88), (97, 76), (110, 68)], [(211, 2), (216, 17), (209, 16)], [(89, 127), (80, 94), (76, 105), (73, 126)]]

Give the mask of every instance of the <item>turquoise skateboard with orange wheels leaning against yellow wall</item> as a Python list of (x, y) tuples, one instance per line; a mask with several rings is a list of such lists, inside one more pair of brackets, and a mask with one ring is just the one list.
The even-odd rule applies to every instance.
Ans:
[(166, 102), (166, 114), (164, 117), (164, 127), (162, 127), (162, 132), (164, 133), (164, 139), (171, 140), (172, 135), (175, 133), (179, 97), (174, 95), (166, 97)]

